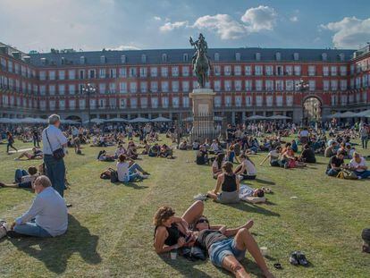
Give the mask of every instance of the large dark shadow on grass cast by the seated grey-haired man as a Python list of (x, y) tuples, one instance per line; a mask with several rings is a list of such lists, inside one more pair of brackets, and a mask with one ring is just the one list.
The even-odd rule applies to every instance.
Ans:
[(97, 253), (98, 237), (90, 234), (88, 228), (82, 226), (73, 215), (68, 215), (68, 221), (68, 231), (60, 237), (9, 240), (17, 249), (37, 258), (55, 274), (64, 273), (69, 258), (76, 252), (80, 253), (80, 257), (89, 265), (99, 264), (102, 259)]

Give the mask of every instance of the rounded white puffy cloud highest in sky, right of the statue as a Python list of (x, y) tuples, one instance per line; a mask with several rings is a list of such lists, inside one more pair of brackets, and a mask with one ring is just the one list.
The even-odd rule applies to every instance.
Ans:
[(257, 32), (260, 30), (272, 30), (276, 22), (277, 13), (269, 6), (260, 5), (250, 8), (243, 14), (241, 21), (247, 24), (248, 30)]

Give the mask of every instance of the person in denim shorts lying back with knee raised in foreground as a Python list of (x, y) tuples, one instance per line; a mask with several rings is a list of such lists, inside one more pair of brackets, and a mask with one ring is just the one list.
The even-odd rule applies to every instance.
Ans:
[(214, 265), (226, 269), (235, 277), (250, 277), (240, 264), (248, 250), (265, 277), (273, 278), (256, 240), (248, 231), (252, 225), (253, 221), (249, 221), (239, 228), (226, 229), (225, 226), (211, 226), (208, 219), (201, 216), (194, 225), (196, 240), (192, 244), (206, 250)]

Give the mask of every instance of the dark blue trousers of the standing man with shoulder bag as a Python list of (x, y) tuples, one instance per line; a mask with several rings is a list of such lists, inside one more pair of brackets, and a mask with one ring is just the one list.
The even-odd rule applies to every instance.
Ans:
[(63, 158), (56, 160), (54, 156), (45, 155), (44, 162), (46, 166), (46, 175), (50, 179), (53, 188), (62, 197), (64, 196), (64, 179), (65, 179), (65, 165)]

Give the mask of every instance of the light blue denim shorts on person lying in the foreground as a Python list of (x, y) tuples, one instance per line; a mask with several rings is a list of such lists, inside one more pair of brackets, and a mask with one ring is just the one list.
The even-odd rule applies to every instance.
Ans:
[(214, 265), (223, 267), (223, 258), (227, 256), (234, 256), (241, 261), (246, 257), (246, 250), (237, 249), (234, 239), (221, 240), (212, 244), (209, 258)]

